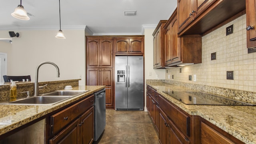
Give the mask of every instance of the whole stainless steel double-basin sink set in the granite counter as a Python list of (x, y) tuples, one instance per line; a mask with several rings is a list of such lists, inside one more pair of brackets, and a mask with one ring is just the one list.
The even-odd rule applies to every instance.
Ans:
[(2, 104), (19, 104), (19, 105), (54, 105), (74, 96), (78, 96), (88, 90), (56, 90), (40, 96), (22, 98), (13, 102), (4, 102)]

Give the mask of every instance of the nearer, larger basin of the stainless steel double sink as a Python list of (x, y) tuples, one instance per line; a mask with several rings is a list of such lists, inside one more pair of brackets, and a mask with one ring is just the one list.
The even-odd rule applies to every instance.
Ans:
[(44, 105), (53, 105), (63, 100), (67, 100), (72, 96), (35, 96), (31, 98), (26, 98), (22, 100), (16, 100), (13, 102), (9, 102), (8, 104), (28, 104), (28, 105), (35, 105), (35, 104), (44, 104)]

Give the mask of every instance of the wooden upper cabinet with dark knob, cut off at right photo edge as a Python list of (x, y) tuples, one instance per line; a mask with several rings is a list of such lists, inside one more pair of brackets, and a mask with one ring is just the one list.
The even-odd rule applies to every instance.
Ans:
[(247, 48), (256, 47), (256, 0), (246, 0)]

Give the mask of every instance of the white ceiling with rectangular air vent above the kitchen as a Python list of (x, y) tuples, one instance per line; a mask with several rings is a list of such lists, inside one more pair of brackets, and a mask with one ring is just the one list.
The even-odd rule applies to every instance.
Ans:
[[(59, 30), (58, 0), (22, 0), (25, 10), (34, 16), (18, 20), (11, 16), (20, 0), (0, 0), (0, 30)], [(93, 35), (142, 34), (145, 27), (167, 20), (177, 0), (60, 0), (61, 28), (86, 28)], [(136, 16), (124, 11), (136, 10)]]

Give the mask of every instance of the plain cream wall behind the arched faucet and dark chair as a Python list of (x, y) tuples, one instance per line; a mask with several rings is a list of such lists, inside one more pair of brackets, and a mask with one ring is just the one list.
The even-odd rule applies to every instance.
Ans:
[[(7, 51), (8, 75), (31, 75), (35, 80), (36, 67), (44, 61), (54, 62), (40, 67), (39, 82), (82, 79), (85, 85), (85, 40), (84, 30), (63, 30), (66, 39), (57, 39), (58, 30), (15, 30), (20, 36), (12, 38), (12, 44), (0, 42), (0, 52)], [(8, 31), (0, 31), (1, 37), (10, 38)]]

